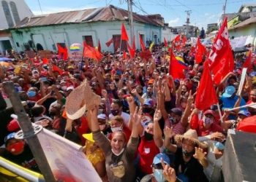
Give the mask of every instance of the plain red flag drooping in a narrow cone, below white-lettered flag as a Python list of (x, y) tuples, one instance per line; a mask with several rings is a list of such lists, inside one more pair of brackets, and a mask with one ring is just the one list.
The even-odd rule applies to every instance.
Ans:
[(211, 105), (218, 103), (214, 82), (211, 79), (208, 61), (203, 65), (203, 74), (195, 96), (195, 108), (205, 110)]

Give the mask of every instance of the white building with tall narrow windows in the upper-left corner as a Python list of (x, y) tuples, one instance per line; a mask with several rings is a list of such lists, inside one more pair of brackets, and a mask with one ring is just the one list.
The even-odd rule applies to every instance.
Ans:
[(14, 42), (8, 28), (12, 28), (24, 17), (33, 13), (24, 0), (0, 0), (0, 52), (12, 50)]

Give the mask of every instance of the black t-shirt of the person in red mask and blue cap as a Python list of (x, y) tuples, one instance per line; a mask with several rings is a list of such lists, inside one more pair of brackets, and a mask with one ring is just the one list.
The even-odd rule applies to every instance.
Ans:
[(29, 170), (33, 170), (35, 172), (40, 173), (39, 167), (37, 165), (36, 160), (34, 159), (34, 156), (29, 149), (28, 145), (24, 146), (24, 151), (23, 153), (19, 155), (12, 155), (10, 152), (6, 152), (3, 157), (5, 159), (10, 160), (11, 162), (14, 162), (17, 165), (20, 165), (22, 167), (25, 167)]

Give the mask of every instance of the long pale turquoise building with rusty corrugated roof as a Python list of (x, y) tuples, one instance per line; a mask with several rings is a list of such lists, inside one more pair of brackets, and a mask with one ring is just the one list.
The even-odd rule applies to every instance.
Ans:
[[(161, 15), (138, 15), (133, 13), (135, 44), (140, 49), (139, 34), (147, 44), (154, 41), (159, 44), (162, 40), (164, 19)], [(118, 47), (126, 48), (127, 44), (121, 39), (121, 23), (124, 23), (129, 35), (127, 10), (110, 5), (94, 9), (84, 9), (69, 12), (58, 12), (48, 15), (24, 18), (18, 25), (11, 28), (15, 49), (24, 50), (53, 50), (56, 44), (83, 43), (98, 46), (101, 42), (102, 51), (115, 51)], [(105, 42), (113, 39), (110, 47)]]

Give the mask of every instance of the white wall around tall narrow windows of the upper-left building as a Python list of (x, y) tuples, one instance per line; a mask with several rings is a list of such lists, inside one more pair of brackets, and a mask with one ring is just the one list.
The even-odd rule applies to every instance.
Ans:
[[(9, 27), (7, 24), (6, 17), (4, 15), (4, 9), (1, 6), (1, 1), (2, 0), (0, 0), (0, 29), (7, 29)], [(20, 20), (23, 20), (24, 17), (31, 17), (33, 15), (33, 13), (31, 12), (31, 10), (29, 9), (28, 5), (26, 4), (26, 2), (24, 0), (5, 0), (5, 1), (7, 1), (7, 4), (9, 5), (11, 15), (12, 15), (12, 10), (10, 7), (10, 2), (11, 1), (15, 2)], [(15, 20), (14, 20), (13, 16), (12, 16), (12, 21), (15, 24)]]

